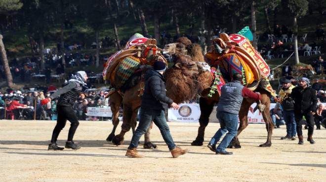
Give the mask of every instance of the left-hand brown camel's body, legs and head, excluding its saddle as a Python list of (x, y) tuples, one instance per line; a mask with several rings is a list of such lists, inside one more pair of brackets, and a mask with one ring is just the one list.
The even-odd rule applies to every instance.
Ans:
[[(129, 59), (134, 59), (134, 57), (128, 57)], [(163, 60), (163, 57), (160, 57), (159, 60)], [(175, 67), (180, 67), (180, 73), (188, 75), (190, 77), (195, 77), (196, 75), (190, 75), (187, 73), (188, 70), (193, 70), (190, 73), (191, 74), (197, 74), (199, 69), (201, 69), (203, 66), (201, 63), (197, 63), (195, 61), (191, 60), (191, 57), (186, 55), (176, 55), (175, 60), (180, 60), (179, 63), (175, 64)], [(122, 58), (123, 61), (123, 58)], [(182, 64), (182, 62), (187, 62), (186, 64)], [(119, 66), (119, 64), (118, 64)], [(138, 66), (138, 65), (137, 65)], [(186, 68), (186, 69), (185, 69)], [(109, 93), (110, 95), (110, 107), (113, 113), (113, 129), (112, 132), (107, 137), (107, 141), (112, 141), (115, 145), (122, 145), (124, 141), (124, 135), (126, 132), (132, 128), (132, 131), (135, 131), (136, 127), (136, 117), (138, 113), (138, 109), (141, 104), (141, 91), (143, 89), (144, 85), (144, 75), (146, 70), (152, 69), (151, 66), (145, 65), (140, 66), (136, 69), (135, 73), (133, 73), (127, 81), (123, 84), (123, 86), (120, 88), (116, 88), (115, 86), (120, 85), (120, 80), (118, 79), (117, 75), (113, 77), (109, 77), (111, 81), (111, 85), (116, 89), (115, 91), (111, 91)], [(117, 71), (118, 72), (118, 71)], [(117, 74), (114, 73), (113, 74)], [(188, 71), (189, 72), (189, 71)], [(120, 134), (115, 135), (115, 131), (119, 124), (119, 109), (120, 106), (123, 106), (123, 118), (122, 118), (122, 130)], [(144, 142), (144, 149), (156, 149), (157, 145), (151, 143), (150, 141), (150, 131), (151, 126), (148, 128), (147, 132), (145, 133), (145, 142)]]

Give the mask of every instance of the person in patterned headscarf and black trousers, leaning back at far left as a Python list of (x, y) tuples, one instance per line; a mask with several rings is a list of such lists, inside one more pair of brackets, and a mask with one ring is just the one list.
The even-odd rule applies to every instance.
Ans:
[[(56, 142), (57, 138), (60, 134), (60, 131), (65, 127), (67, 120), (71, 122), (70, 129), (68, 132), (68, 140), (66, 142), (66, 149), (78, 150), (81, 147), (76, 145), (73, 141), (75, 132), (79, 125), (78, 118), (76, 116), (75, 111), (73, 110), (73, 106), (79, 96), (79, 93), (82, 91), (82, 86), (86, 85), (87, 74), (84, 71), (78, 71), (72, 78), (66, 82), (66, 85), (54, 92), (49, 98), (54, 99), (60, 95), (58, 104), (57, 104), (57, 124), (55, 125), (51, 137), (51, 143), (48, 145), (48, 150), (51, 151), (62, 151), (63, 147), (58, 147)], [(41, 104), (44, 105), (48, 103), (50, 99), (45, 98), (41, 100)]]

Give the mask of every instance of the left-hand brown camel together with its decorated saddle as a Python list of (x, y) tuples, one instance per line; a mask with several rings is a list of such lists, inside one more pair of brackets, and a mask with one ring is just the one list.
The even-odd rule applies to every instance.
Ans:
[[(133, 42), (132, 38), (130, 38), (129, 42)], [(124, 52), (122, 53), (117, 52), (115, 55), (111, 57), (112, 59), (110, 58), (107, 61), (106, 67), (104, 68), (103, 76), (104, 78), (108, 79), (111, 82), (111, 87), (114, 88), (113, 91), (109, 92), (109, 96), (110, 96), (109, 105), (113, 113), (112, 115), (113, 129), (106, 139), (108, 142), (112, 141), (114, 145), (117, 146), (122, 145), (124, 141), (124, 135), (126, 132), (130, 130), (130, 128), (132, 129), (133, 133), (135, 131), (135, 127), (137, 124), (136, 117), (137, 117), (138, 109), (141, 104), (142, 92), (144, 89), (145, 72), (148, 69), (152, 69), (151, 65), (154, 63), (154, 61), (164, 61), (167, 65), (167, 61), (160, 54), (159, 52), (160, 49), (157, 48), (155, 44), (156, 44), (155, 39), (148, 39), (144, 44), (136, 45), (136, 47), (138, 46), (139, 49), (135, 49), (135, 50), (125, 49), (123, 50)], [(149, 50), (148, 48), (157, 49), (157, 52), (146, 54), (146, 55), (150, 55), (150, 54), (153, 55), (144, 57), (143, 55), (145, 54), (146, 51)], [(139, 55), (139, 53), (141, 54)], [(182, 54), (182, 55), (176, 55), (175, 57), (176, 60), (180, 60), (179, 63), (175, 64), (175, 67), (182, 68), (179, 69), (182, 74), (186, 74), (190, 77), (194, 77), (193, 75), (187, 74), (186, 71), (193, 70), (191, 71), (191, 74), (196, 74), (199, 69), (201, 70), (203, 68), (203, 65), (201, 63), (192, 61), (191, 57), (189, 56)], [(139, 60), (140, 63), (138, 64), (137, 61)], [(131, 70), (134, 70), (134, 72), (122, 84), (122, 78), (119, 77), (119, 73), (118, 73), (120, 71), (119, 66), (121, 66), (122, 64), (127, 64), (126, 61), (132, 62), (132, 64), (134, 65), (134, 67), (130, 67), (130, 69), (128, 69), (127, 71), (130, 72)], [(187, 65), (183, 64), (182, 62), (187, 62)], [(125, 76), (123, 75), (123, 77)], [(122, 107), (123, 108), (122, 130), (120, 134), (115, 135), (115, 131), (119, 124), (118, 116), (119, 116), (120, 106), (123, 106)], [(145, 133), (145, 141), (143, 147), (144, 149), (157, 149), (157, 145), (153, 144), (150, 141), (150, 131), (151, 131), (151, 126), (148, 128), (147, 132)]]

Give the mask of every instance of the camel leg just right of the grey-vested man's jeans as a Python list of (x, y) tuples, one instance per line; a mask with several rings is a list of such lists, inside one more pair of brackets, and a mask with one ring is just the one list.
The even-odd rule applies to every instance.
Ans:
[(240, 123), (239, 123), (239, 127), (238, 127), (238, 133), (237, 133), (237, 136), (235, 136), (232, 139), (228, 148), (231, 148), (231, 149), (240, 149), (241, 148), (238, 136), (248, 126), (248, 111), (249, 111), (249, 107), (252, 103), (253, 103), (253, 101), (248, 102), (246, 99), (243, 100), (243, 102), (241, 104), (240, 111), (239, 111)]

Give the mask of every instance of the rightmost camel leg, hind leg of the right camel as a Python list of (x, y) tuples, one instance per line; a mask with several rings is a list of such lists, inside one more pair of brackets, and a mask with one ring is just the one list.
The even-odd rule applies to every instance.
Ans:
[(266, 107), (264, 111), (262, 112), (263, 119), (266, 124), (266, 130), (267, 130), (267, 141), (264, 144), (259, 145), (259, 147), (271, 147), (272, 146), (272, 135), (273, 135), (273, 129), (274, 129), (274, 123), (272, 121), (271, 115), (269, 114), (270, 110), (270, 104), (271, 104), (271, 94), (267, 91), (260, 91), (261, 93), (261, 103), (264, 104)]

